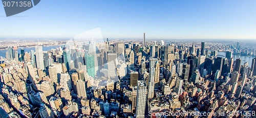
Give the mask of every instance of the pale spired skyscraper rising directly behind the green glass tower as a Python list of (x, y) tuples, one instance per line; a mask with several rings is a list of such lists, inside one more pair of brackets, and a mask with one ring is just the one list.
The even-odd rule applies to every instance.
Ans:
[(89, 45), (89, 54), (92, 54), (94, 57), (94, 71), (95, 74), (98, 72), (98, 59), (97, 59), (97, 54), (96, 54), (96, 42), (92, 41), (91, 44)]

